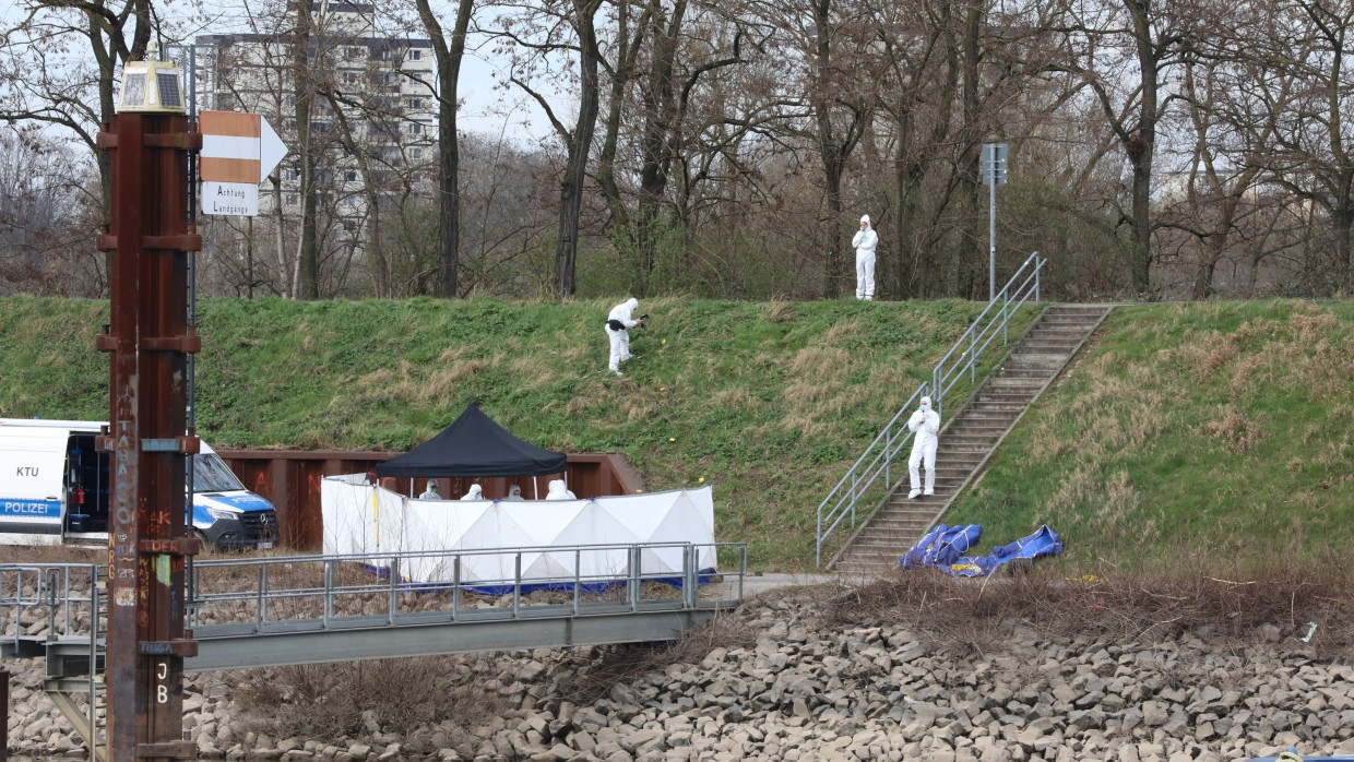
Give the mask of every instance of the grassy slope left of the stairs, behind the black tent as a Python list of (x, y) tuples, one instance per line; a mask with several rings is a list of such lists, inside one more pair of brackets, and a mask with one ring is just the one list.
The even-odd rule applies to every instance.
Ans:
[[(754, 568), (810, 568), (818, 502), (982, 309), (651, 299), (617, 379), (612, 302), (207, 300), (198, 428), (217, 447), (402, 451), (475, 402), (542, 447), (623, 452), (651, 490), (704, 480), (718, 539), (747, 541)], [(103, 302), (0, 299), (0, 416), (106, 418), (107, 319)]]

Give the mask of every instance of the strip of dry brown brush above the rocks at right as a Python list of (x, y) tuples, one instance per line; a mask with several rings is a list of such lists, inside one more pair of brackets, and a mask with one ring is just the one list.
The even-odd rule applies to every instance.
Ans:
[[(1336, 560), (1271, 562), (1233, 579), (1086, 575), (1011, 567), (986, 579), (898, 573), (850, 586), (823, 606), (829, 625), (906, 627), (918, 639), (991, 650), (1025, 629), (1053, 640), (1118, 643), (1192, 635), (1220, 648), (1271, 642), (1322, 655), (1354, 654), (1354, 574)], [(1309, 623), (1316, 631), (1309, 642)]]

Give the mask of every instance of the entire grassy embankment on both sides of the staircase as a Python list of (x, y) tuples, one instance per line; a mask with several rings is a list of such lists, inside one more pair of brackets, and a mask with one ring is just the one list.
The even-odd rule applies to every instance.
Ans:
[[(979, 306), (646, 300), (627, 378), (609, 303), (219, 300), (199, 424), (237, 447), (405, 449), (478, 402), (544, 447), (705, 479), (754, 568), (812, 564), (814, 508)], [(1026, 315), (1028, 319), (1028, 315)], [(103, 418), (107, 305), (0, 300), (0, 414)], [(1354, 305), (1120, 309), (945, 521), (1041, 522), (1070, 568), (1331, 560), (1354, 540)]]

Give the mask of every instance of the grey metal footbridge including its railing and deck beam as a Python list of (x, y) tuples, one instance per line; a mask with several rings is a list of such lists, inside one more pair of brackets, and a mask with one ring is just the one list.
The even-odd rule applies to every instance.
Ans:
[[(194, 560), (184, 670), (674, 640), (742, 602), (746, 544), (711, 547), (737, 571), (697, 568), (709, 547), (686, 543)], [(463, 575), (486, 560), (506, 574)], [(102, 564), (0, 564), (0, 658), (46, 658), (49, 690), (87, 689), (106, 583)]]

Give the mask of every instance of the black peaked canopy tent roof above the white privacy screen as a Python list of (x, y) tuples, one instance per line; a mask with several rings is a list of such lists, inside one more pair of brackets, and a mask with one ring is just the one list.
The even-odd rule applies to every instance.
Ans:
[(456, 422), (409, 452), (376, 466), (378, 476), (538, 476), (567, 472), (563, 452), (508, 433), (467, 405)]

